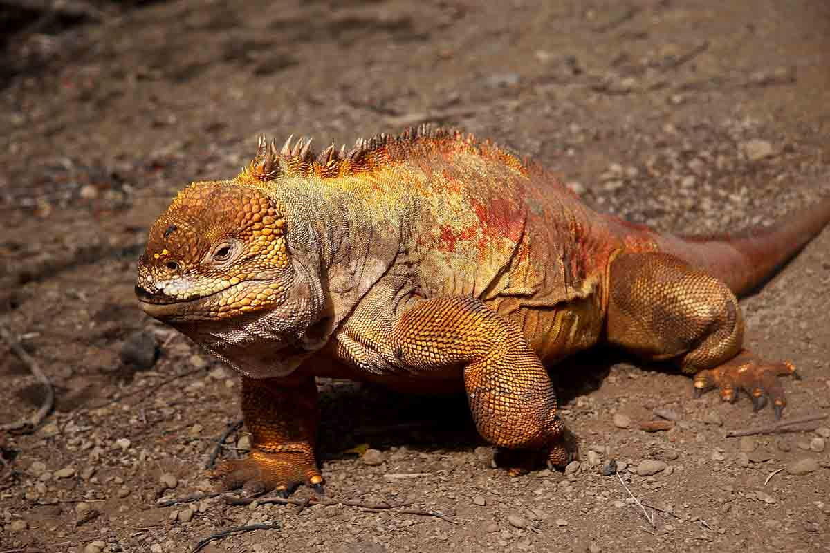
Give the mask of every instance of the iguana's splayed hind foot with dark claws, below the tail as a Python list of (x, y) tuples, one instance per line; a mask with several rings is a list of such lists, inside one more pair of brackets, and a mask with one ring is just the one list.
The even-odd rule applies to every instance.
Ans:
[(714, 369), (698, 371), (695, 375), (695, 395), (699, 397), (707, 390), (720, 389), (720, 398), (734, 402), (740, 390), (744, 390), (752, 399), (753, 410), (757, 411), (772, 401), (775, 419), (781, 418), (781, 412), (787, 405), (784, 388), (778, 376), (793, 376), (798, 379), (795, 366), (789, 361), (770, 362), (743, 351)]

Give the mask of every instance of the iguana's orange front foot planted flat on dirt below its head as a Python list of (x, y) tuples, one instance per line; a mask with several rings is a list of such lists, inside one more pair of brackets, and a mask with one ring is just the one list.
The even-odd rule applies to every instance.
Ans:
[(234, 459), (220, 464), (211, 473), (222, 491), (243, 488), (251, 494), (276, 490), (288, 497), (301, 484), (324, 494), (323, 477), (317, 470), (313, 456), (300, 452), (265, 454), (254, 451), (248, 458)]

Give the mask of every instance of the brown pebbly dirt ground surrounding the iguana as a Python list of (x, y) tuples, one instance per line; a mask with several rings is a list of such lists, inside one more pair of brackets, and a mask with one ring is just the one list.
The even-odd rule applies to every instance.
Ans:
[[(210, 491), (239, 384), (133, 295), (173, 192), (232, 177), (259, 133), (325, 145), (432, 121), (662, 230), (798, 216), (830, 192), (830, 3), (191, 0), (95, 20), (5, 45), (0, 323), (56, 409), (0, 434), (0, 551), (193, 551), (251, 524), (266, 529), (202, 551), (830, 551), (830, 420), (727, 437), (771, 411), (693, 399), (686, 376), (608, 352), (552, 369), (579, 439), (566, 473), (491, 468), (461, 396), (321, 381), (326, 497), (407, 507), (159, 507)], [(742, 302), (749, 346), (803, 375), (785, 419), (830, 414), (828, 285), (825, 230)], [(5, 423), (44, 395), (0, 351)], [(640, 429), (654, 410), (674, 427)], [(231, 433), (220, 456), (246, 444)], [(641, 475), (644, 460), (666, 466)]]

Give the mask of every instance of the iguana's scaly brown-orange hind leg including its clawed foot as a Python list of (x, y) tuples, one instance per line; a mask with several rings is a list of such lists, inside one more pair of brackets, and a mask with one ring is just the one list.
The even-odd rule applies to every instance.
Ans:
[(789, 362), (770, 362), (743, 349), (744, 319), (735, 294), (720, 280), (659, 253), (625, 254), (611, 265), (608, 341), (651, 360), (676, 360), (696, 374), (695, 390), (717, 386), (723, 400), (738, 391), (755, 410), (772, 401), (776, 417), (786, 405), (778, 375)]

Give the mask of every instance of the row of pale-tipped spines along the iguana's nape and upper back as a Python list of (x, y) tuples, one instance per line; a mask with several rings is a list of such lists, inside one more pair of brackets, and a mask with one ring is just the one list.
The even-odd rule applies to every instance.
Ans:
[(432, 129), (428, 124), (410, 127), (395, 136), (380, 133), (371, 138), (358, 138), (348, 152), (345, 144), (338, 149), (332, 143), (319, 155), (311, 151), (311, 138), (300, 137), (295, 141), (291, 134), (277, 150), (273, 140), (269, 143), (261, 136), (256, 145), (256, 156), (247, 167), (242, 167), (240, 177), (269, 182), (289, 175), (337, 177), (364, 172), (383, 163), (407, 158), (422, 139), (454, 140), (473, 148), (479, 146), (472, 134), (454, 129)]

